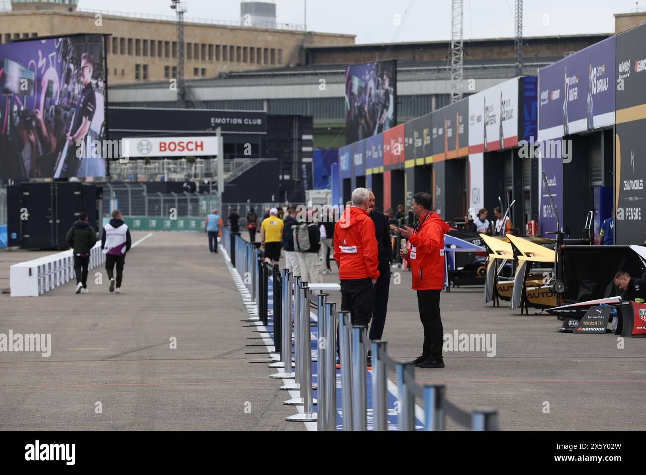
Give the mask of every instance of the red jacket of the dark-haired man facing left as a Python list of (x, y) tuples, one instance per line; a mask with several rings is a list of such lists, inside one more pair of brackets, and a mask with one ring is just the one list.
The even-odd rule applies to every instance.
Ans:
[(444, 233), (448, 224), (434, 212), (422, 216), (417, 231), (408, 240), (411, 249), (406, 257), (413, 274), (413, 290), (444, 288)]

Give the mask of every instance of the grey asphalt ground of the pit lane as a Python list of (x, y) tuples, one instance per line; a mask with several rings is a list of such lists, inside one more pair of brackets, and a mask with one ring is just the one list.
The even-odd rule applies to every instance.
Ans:
[[(206, 245), (201, 233), (154, 233), (128, 255), (120, 295), (108, 293), (105, 272), (94, 284), (98, 269), (87, 295), (71, 282), (41, 297), (0, 295), (0, 333), (52, 333), (54, 348), (48, 358), (0, 353), (0, 428), (303, 430), (284, 421), (295, 411), (282, 405), (274, 370), (248, 363), (257, 334), (241, 322), (248, 314), (222, 255)], [(326, 282), (338, 282), (332, 268)], [(393, 269), (393, 280), (383, 339), (405, 361), (421, 354), (422, 327), (410, 273)], [(444, 383), (464, 410), (497, 408), (503, 430), (646, 428), (646, 339), (618, 349), (615, 335), (559, 333), (556, 317), (482, 297), (480, 287), (443, 293), (444, 333), (495, 334), (495, 357), (445, 353), (446, 368), (417, 368), (419, 381)]]

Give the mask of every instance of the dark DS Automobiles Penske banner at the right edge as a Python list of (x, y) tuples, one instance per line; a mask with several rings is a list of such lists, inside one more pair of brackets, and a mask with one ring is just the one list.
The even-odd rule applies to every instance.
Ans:
[(614, 244), (642, 244), (641, 213), (646, 193), (646, 119), (617, 124), (615, 129)]

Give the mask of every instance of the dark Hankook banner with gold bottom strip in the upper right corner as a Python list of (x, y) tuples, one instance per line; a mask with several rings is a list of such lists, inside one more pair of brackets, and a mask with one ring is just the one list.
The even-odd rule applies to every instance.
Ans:
[(617, 123), (645, 118), (643, 109), (624, 111), (646, 104), (646, 25), (616, 36), (616, 109)]

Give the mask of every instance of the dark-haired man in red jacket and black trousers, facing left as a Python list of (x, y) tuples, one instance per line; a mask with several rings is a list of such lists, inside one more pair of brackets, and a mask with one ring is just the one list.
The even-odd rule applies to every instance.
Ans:
[(415, 364), (420, 368), (444, 368), (440, 291), (444, 287), (444, 233), (448, 231), (448, 224), (431, 209), (431, 195), (415, 193), (413, 213), (419, 224), (415, 229), (410, 226), (399, 228), (402, 237), (412, 246), (410, 253), (400, 250), (399, 255), (410, 264), (413, 290), (417, 290), (419, 319), (424, 326), (424, 347)]

